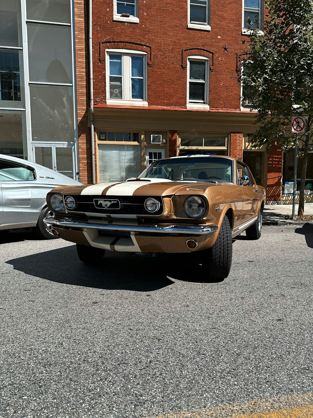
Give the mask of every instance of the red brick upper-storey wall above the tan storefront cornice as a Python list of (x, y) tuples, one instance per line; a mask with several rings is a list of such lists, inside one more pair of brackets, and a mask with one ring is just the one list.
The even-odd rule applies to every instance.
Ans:
[[(188, 2), (139, 0), (139, 24), (113, 22), (113, 0), (93, 1), (94, 100), (106, 102), (106, 48), (148, 52), (148, 102), (185, 107), (186, 51), (210, 58), (210, 108), (240, 109), (236, 53), (242, 52), (242, 0), (211, 1), (210, 32), (187, 29)], [(227, 45), (228, 52), (223, 48)], [(201, 52), (202, 50), (202, 52)], [(151, 56), (149, 53), (151, 52)]]

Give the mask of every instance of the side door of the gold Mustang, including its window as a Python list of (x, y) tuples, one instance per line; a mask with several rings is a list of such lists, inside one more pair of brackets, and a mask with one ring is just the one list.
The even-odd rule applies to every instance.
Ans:
[(258, 201), (257, 185), (254, 182), (252, 174), (247, 166), (241, 161), (237, 161), (237, 184), (240, 184), (240, 178), (247, 176), (249, 182), (242, 185), (243, 201), (242, 201), (242, 223), (249, 221), (255, 216)]

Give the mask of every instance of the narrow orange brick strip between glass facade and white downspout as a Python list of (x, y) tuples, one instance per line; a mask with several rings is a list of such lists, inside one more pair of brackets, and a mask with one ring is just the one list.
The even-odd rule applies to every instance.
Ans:
[(89, 68), (88, 10), (84, 0), (75, 0), (75, 53), (77, 81), (79, 172), (82, 183), (92, 183), (91, 140), (88, 128)]

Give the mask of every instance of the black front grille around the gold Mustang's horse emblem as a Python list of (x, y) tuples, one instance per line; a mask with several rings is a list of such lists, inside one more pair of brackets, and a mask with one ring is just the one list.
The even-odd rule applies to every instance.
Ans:
[[(66, 197), (66, 196), (64, 196)], [(163, 201), (159, 196), (86, 196), (79, 195), (73, 196), (76, 199), (77, 205), (73, 210), (67, 209), (68, 212), (79, 213), (97, 213), (97, 214), (111, 214), (111, 215), (153, 215), (159, 216), (163, 213)], [(154, 199), (160, 202), (160, 208), (157, 212), (148, 212), (144, 207), (144, 202), (148, 197), (154, 197)], [(118, 200), (120, 202), (120, 209), (102, 209), (96, 207), (93, 199), (104, 200)]]

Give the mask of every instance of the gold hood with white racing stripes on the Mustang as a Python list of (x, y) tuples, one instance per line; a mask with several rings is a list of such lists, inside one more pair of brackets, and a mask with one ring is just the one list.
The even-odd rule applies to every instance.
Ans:
[(57, 187), (53, 191), (62, 194), (84, 196), (169, 196), (177, 193), (204, 193), (216, 184), (204, 181), (171, 181), (151, 178), (147, 180), (129, 180), (120, 183), (99, 183), (76, 187)]

